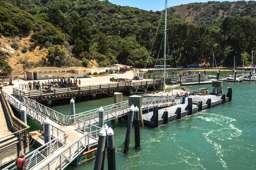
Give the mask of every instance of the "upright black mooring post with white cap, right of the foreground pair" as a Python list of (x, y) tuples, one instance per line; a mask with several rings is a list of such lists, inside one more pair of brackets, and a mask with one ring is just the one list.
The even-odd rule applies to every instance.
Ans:
[(116, 153), (115, 153), (115, 145), (114, 145), (114, 131), (111, 127), (109, 127), (107, 132), (107, 140), (108, 140), (108, 170), (116, 170)]

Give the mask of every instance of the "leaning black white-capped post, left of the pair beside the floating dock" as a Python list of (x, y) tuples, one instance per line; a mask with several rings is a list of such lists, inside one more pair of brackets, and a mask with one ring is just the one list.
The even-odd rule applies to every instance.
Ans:
[(132, 121), (134, 117), (134, 105), (131, 105), (129, 115), (128, 115), (128, 124), (126, 129), (126, 135), (125, 135), (125, 149), (124, 153), (129, 152), (129, 145), (130, 145), (130, 139), (131, 139), (131, 128), (132, 128)]

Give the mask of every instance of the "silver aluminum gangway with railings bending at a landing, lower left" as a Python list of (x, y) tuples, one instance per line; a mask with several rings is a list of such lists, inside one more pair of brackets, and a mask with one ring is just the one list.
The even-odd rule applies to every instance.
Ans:
[[(17, 111), (20, 111), (21, 108), (26, 108), (27, 116), (43, 125), (47, 116), (36, 108), (31, 107), (41, 107), (41, 105), (39, 106), (38, 103), (33, 103), (29, 100), (26, 100), (26, 102), (30, 103), (30, 105), (26, 105), (27, 103), (24, 103), (24, 101), (21, 102), (9, 94), (4, 93), (4, 95)], [(50, 119), (62, 119), (61, 116), (56, 116), (58, 113), (50, 111), (48, 108), (43, 110), (48, 111), (48, 115), (51, 116)], [(85, 150), (90, 150), (90, 147), (97, 145), (100, 127), (88, 124), (86, 125), (86, 133), (80, 133), (76, 130), (76, 125), (63, 125), (62, 122), (59, 125), (58, 122), (60, 121), (51, 122), (52, 141), (26, 155), (27, 170), (62, 170)], [(13, 163), (4, 170), (15, 169), (16, 165)]]

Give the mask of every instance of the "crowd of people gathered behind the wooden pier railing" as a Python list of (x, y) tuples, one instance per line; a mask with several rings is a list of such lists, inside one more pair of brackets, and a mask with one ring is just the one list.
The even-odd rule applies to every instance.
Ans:
[(28, 83), (28, 90), (32, 91), (32, 89), (35, 89), (38, 91), (38, 90), (44, 90), (45, 88), (68, 87), (69, 85), (81, 85), (81, 80), (76, 79), (74, 82), (72, 82), (72, 79), (67, 79), (67, 80), (58, 79), (58, 81), (55, 80), (55, 82), (48, 80), (48, 82), (41, 82), (41, 83), (39, 81), (38, 82), (34, 81), (33, 83), (32, 82)]

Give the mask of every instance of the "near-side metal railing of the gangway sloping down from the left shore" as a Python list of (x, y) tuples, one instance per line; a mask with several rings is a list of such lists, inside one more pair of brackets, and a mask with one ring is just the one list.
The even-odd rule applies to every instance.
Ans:
[[(42, 115), (38, 111), (33, 110), (32, 108), (29, 108), (28, 106), (24, 105), (20, 101), (17, 101), (17, 99), (12, 98), (9, 94), (4, 92), (4, 95), (7, 99), (7, 101), (15, 107), (17, 111), (20, 112), (20, 109), (23, 107), (26, 109), (26, 115), (33, 119), (35, 122), (37, 122), (39, 125), (43, 126), (44, 125), (44, 120), (47, 118), (47, 116)], [(51, 136), (52, 138), (57, 138), (58, 136), (62, 135), (65, 133), (63, 130), (59, 129), (58, 127), (55, 127), (54, 125), (51, 125)], [(64, 143), (66, 143), (67, 136), (65, 136)]]

